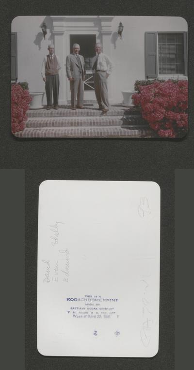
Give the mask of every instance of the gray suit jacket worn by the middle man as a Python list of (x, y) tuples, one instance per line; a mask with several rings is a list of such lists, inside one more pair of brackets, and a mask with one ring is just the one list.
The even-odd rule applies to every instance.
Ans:
[[(82, 77), (84, 78), (85, 76), (85, 63), (84, 63), (84, 58), (82, 55), (79, 54), (80, 61), (81, 61), (81, 66), (82, 66)], [(79, 64), (77, 57), (74, 54), (67, 55), (66, 57), (66, 74), (67, 77), (70, 78), (80, 78), (80, 70), (79, 70)]]

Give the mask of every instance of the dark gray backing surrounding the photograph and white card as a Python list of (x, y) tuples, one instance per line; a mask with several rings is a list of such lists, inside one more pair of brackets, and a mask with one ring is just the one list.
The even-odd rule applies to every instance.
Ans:
[[(174, 170), (194, 167), (194, 7), (193, 1), (1, 1), (0, 168), (25, 170), (26, 367), (27, 370), (174, 369)], [(10, 132), (11, 20), (17, 15), (171, 15), (188, 22), (189, 133), (180, 140), (16, 139)], [(125, 30), (124, 30), (125, 31)], [(38, 186), (46, 179), (150, 180), (161, 186), (161, 300), (159, 353), (151, 358), (44, 357), (36, 349), (36, 257)], [(12, 181), (16, 199), (15, 182)], [(6, 186), (5, 186), (6, 188)], [(10, 188), (8, 189), (10, 191)], [(184, 189), (186, 199), (187, 191)], [(4, 192), (3, 192), (4, 194)], [(22, 199), (22, 195), (20, 194)], [(9, 200), (9, 198), (8, 198)], [(13, 198), (10, 199), (11, 205)], [(19, 203), (20, 204), (20, 203)], [(11, 207), (10, 205), (10, 207)], [(15, 209), (14, 209), (15, 210)], [(15, 210), (16, 211), (16, 210)], [(16, 213), (17, 215), (17, 213)], [(188, 216), (188, 215), (187, 215)], [(19, 217), (19, 213), (18, 213)], [(186, 219), (186, 215), (185, 218)], [(21, 223), (22, 225), (22, 217)], [(18, 227), (19, 223), (18, 223)], [(6, 229), (7, 230), (7, 229)], [(179, 229), (178, 229), (179, 230)], [(179, 230), (181, 231), (181, 230)], [(11, 238), (12, 230), (8, 229)], [(3, 234), (3, 233), (2, 233)], [(186, 238), (186, 235), (185, 235)], [(22, 241), (21, 241), (22, 244)], [(12, 259), (9, 259), (12, 261)], [(16, 268), (15, 264), (13, 268)], [(19, 267), (18, 267), (19, 268)], [(15, 270), (14, 270), (15, 271)], [(16, 282), (15, 271), (12, 284)], [(11, 285), (11, 291), (13, 285)], [(18, 293), (19, 294), (19, 293)], [(11, 303), (10, 303), (11, 304)], [(16, 314), (13, 306), (13, 315)], [(187, 307), (185, 303), (185, 307)], [(184, 320), (186, 320), (184, 315)], [(17, 323), (18, 317), (15, 317)], [(8, 317), (7, 323), (10, 324)], [(18, 341), (22, 330), (10, 330)], [(179, 333), (178, 333), (179, 334)], [(180, 335), (180, 339), (184, 339)], [(14, 340), (12, 341), (14, 343)], [(9, 340), (7, 341), (9, 345)], [(13, 348), (13, 345), (12, 345)], [(15, 348), (15, 347), (14, 347)], [(183, 351), (183, 348), (182, 348)], [(182, 352), (181, 352), (182, 353)], [(181, 355), (179, 352), (179, 355)], [(8, 347), (4, 369), (22, 369)], [(10, 362), (14, 361), (11, 367)], [(185, 368), (187, 358), (184, 357)], [(178, 369), (178, 365), (176, 366)]]

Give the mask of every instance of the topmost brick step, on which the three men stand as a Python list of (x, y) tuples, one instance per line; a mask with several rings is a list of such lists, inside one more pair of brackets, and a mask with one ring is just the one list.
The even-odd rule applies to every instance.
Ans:
[(83, 108), (72, 110), (69, 106), (60, 106), (58, 110), (56, 109), (29, 109), (27, 111), (27, 117), (99, 117), (99, 116), (123, 116), (126, 112), (131, 114), (138, 114), (140, 112), (139, 108), (125, 108), (122, 106), (111, 106), (107, 113), (103, 113), (97, 108)]

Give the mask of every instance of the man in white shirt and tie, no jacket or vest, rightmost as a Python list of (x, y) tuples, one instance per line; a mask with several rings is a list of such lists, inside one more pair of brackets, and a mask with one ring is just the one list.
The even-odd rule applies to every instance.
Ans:
[(92, 71), (94, 73), (94, 88), (99, 109), (106, 113), (109, 110), (108, 84), (107, 78), (113, 70), (113, 62), (102, 53), (100, 43), (96, 44), (97, 55), (92, 61)]

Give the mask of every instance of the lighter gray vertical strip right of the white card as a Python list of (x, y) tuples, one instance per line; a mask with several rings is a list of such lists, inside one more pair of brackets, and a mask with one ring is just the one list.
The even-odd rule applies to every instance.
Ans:
[(175, 170), (175, 369), (192, 369), (194, 283), (194, 169)]

